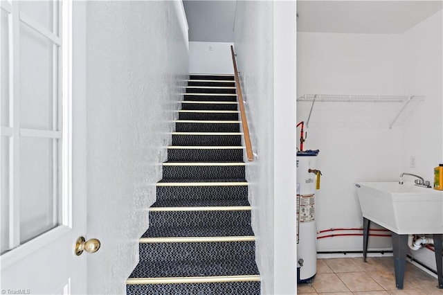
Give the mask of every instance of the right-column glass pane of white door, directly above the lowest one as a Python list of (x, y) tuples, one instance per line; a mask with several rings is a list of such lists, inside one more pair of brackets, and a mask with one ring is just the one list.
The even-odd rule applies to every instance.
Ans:
[(20, 25), (21, 128), (53, 129), (53, 42)]

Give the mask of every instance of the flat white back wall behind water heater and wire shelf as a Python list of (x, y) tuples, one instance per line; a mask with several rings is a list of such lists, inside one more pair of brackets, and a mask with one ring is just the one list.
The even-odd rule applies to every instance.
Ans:
[[(403, 94), (401, 35), (298, 33), (297, 94)], [(298, 121), (311, 102), (298, 102)], [(316, 102), (305, 125), (305, 150), (320, 150), (317, 229), (359, 228), (355, 181), (395, 180), (400, 173), (401, 128), (389, 129), (399, 104)], [(297, 129), (300, 136), (300, 128)], [(371, 238), (370, 248), (389, 248)], [(318, 251), (361, 250), (361, 237), (318, 240)]]

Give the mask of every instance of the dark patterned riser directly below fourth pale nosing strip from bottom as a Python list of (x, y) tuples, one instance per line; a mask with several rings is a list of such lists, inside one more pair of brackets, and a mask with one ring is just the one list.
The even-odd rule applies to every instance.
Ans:
[(157, 186), (158, 201), (172, 199), (248, 199), (248, 186)]

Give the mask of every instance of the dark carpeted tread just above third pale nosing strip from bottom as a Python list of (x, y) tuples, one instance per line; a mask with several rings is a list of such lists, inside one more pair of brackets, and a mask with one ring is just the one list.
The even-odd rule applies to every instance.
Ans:
[[(210, 196), (208, 196), (210, 197)], [(251, 206), (247, 199), (170, 199), (156, 201), (151, 208)]]

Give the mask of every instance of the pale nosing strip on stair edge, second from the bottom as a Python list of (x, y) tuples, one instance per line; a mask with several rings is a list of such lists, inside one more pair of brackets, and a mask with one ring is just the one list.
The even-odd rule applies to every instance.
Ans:
[(139, 243), (194, 243), (194, 242), (253, 242), (253, 235), (235, 235), (228, 237), (162, 237), (140, 238)]

